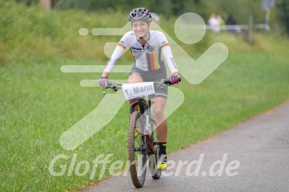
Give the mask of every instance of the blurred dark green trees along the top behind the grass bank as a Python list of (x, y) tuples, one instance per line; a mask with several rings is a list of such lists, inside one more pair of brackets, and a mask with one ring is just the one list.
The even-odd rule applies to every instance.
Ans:
[[(36, 3), (39, 0), (15, 0)], [(254, 23), (264, 23), (266, 12), (261, 0), (51, 0), (53, 9), (81, 9), (86, 11), (129, 13), (133, 8), (146, 7), (166, 18), (179, 16), (186, 12), (199, 14), (207, 21), (211, 14), (222, 15), (226, 20), (231, 12), (238, 24), (248, 24), (253, 16)], [(288, 0), (279, 0), (280, 9)], [(286, 12), (287, 11), (287, 12)], [(289, 9), (284, 9), (282, 19), (287, 20)], [(286, 16), (287, 14), (287, 16)]]

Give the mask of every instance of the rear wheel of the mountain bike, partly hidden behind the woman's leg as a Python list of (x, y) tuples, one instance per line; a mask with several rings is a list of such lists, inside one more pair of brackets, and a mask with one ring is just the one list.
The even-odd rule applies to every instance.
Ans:
[[(153, 109), (151, 109), (151, 119), (155, 119)], [(153, 179), (160, 179), (162, 171), (158, 169), (158, 162), (160, 158), (160, 146), (158, 133), (156, 129), (156, 124), (154, 121), (151, 121), (151, 132), (152, 135), (150, 137), (151, 143), (153, 144), (154, 151), (149, 155), (149, 167), (150, 173)]]

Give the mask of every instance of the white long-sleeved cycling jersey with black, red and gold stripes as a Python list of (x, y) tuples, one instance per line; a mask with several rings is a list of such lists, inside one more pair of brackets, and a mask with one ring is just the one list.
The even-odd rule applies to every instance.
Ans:
[(127, 46), (130, 48), (134, 57), (135, 67), (138, 69), (143, 71), (154, 71), (166, 67), (161, 54), (163, 52), (171, 72), (177, 72), (172, 50), (166, 36), (160, 31), (151, 30), (149, 31), (149, 40), (144, 47), (137, 41), (137, 37), (133, 31), (127, 32), (117, 44), (104, 71), (110, 73), (113, 70), (117, 60)]

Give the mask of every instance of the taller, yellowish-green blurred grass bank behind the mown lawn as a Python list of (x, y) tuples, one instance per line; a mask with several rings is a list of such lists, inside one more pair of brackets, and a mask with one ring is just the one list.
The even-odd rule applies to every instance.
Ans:
[[(122, 28), (127, 24), (123, 12), (85, 12), (79, 10), (46, 10), (38, 6), (26, 6), (12, 0), (0, 0), (0, 65), (23, 62), (27, 59), (38, 62), (56, 56), (74, 59), (94, 59), (107, 62), (104, 46), (107, 42), (118, 42), (121, 36), (94, 36), (94, 28)], [(161, 26), (173, 38), (176, 18), (169, 21), (162, 17)], [(80, 28), (87, 28), (88, 35), (81, 36)], [(176, 39), (176, 38), (175, 38)], [(205, 38), (196, 47), (186, 50), (193, 53), (205, 47)], [(176, 40), (177, 41), (177, 40)], [(180, 41), (177, 43), (183, 45)], [(24, 50), (24, 51), (23, 51)], [(124, 57), (132, 58), (130, 54)], [(94, 63), (95, 61), (93, 61)]]

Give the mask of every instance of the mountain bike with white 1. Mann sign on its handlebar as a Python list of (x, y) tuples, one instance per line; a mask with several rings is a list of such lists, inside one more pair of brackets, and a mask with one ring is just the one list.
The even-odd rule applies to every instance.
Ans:
[[(147, 160), (153, 179), (160, 179), (162, 174), (162, 171), (157, 168), (160, 146), (156, 121), (151, 108), (151, 93), (154, 91), (152, 88), (170, 85), (172, 85), (171, 82), (166, 79), (134, 84), (108, 83), (108, 88), (114, 91), (122, 89), (127, 100), (136, 98), (136, 101), (131, 103), (129, 108), (127, 144), (130, 176), (136, 188), (141, 188), (144, 185)], [(148, 96), (147, 99), (146, 96)], [(136, 106), (138, 106), (139, 111), (135, 111)]]

